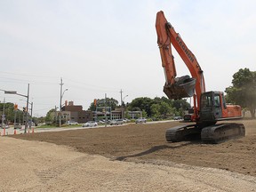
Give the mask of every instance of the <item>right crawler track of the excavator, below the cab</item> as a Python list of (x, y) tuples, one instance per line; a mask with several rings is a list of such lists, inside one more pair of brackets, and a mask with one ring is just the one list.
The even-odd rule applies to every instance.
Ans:
[(244, 124), (214, 124), (204, 127), (201, 132), (201, 140), (204, 143), (221, 143), (226, 140), (234, 140), (245, 136)]

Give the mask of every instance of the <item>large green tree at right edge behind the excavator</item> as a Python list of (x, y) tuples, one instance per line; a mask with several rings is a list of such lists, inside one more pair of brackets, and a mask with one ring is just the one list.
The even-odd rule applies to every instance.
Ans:
[(255, 118), (256, 108), (256, 72), (249, 68), (240, 68), (233, 75), (232, 86), (226, 88), (227, 102), (240, 105), (242, 108), (248, 108), (252, 118)]

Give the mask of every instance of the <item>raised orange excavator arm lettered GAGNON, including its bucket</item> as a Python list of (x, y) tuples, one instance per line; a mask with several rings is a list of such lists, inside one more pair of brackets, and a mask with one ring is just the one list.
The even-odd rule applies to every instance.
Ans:
[[(157, 44), (159, 46), (162, 66), (164, 68), (164, 92), (169, 99), (181, 99), (194, 96), (194, 107), (200, 107), (200, 97), (205, 92), (203, 70), (200, 68), (195, 55), (188, 49), (182, 38), (172, 25), (165, 19), (164, 12), (156, 14)], [(176, 68), (172, 55), (172, 46), (179, 53), (192, 77), (176, 77)], [(195, 94), (196, 90), (196, 95)]]

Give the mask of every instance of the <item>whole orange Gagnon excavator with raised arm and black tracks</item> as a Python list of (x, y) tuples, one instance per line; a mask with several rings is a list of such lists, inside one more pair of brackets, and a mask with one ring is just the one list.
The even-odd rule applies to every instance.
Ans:
[[(223, 92), (205, 92), (202, 68), (162, 11), (156, 14), (156, 33), (165, 75), (164, 93), (170, 100), (193, 97), (194, 113), (191, 121), (196, 123), (168, 129), (166, 140), (180, 141), (200, 136), (204, 143), (220, 143), (244, 137), (244, 124), (216, 124), (217, 121), (242, 118), (241, 107), (228, 105)], [(177, 77), (172, 46), (188, 67), (191, 76)]]

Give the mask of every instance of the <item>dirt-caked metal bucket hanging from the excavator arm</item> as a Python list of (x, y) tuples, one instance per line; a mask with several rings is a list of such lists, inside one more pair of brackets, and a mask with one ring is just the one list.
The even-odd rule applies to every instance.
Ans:
[(175, 78), (175, 84), (164, 84), (164, 93), (170, 100), (192, 97), (195, 92), (196, 79), (190, 76)]

